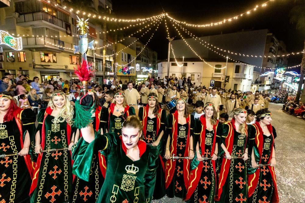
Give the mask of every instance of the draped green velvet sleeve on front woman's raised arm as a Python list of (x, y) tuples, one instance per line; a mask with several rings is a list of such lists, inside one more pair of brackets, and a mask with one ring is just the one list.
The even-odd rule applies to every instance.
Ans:
[(71, 150), (74, 160), (72, 173), (82, 180), (89, 181), (94, 155), (100, 150), (108, 154), (115, 145), (115, 135), (111, 133), (99, 135), (95, 131), (95, 139), (90, 144), (81, 137)]

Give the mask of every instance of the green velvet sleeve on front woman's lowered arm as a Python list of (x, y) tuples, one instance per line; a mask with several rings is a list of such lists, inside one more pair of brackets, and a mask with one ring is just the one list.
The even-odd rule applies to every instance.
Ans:
[(149, 155), (147, 159), (147, 169), (145, 173), (145, 182), (144, 182), (144, 188), (145, 188), (145, 199), (146, 202), (152, 201), (152, 195), (153, 191), (155, 189), (155, 183), (156, 183), (156, 169), (158, 167), (158, 150), (156, 147), (153, 146), (147, 146), (147, 149), (149, 150)]

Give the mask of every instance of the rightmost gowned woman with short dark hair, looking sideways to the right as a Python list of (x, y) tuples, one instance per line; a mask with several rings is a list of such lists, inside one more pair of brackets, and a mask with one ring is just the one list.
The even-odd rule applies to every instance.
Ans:
[(256, 122), (251, 125), (254, 143), (251, 165), (247, 169), (248, 202), (279, 202), (274, 173), (276, 131), (271, 125), (271, 117), (272, 114), (267, 109), (259, 110), (256, 113)]

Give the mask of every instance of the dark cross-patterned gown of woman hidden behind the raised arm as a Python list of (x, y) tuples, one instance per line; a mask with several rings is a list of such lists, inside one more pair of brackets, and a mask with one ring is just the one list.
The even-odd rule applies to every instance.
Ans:
[[(95, 126), (95, 129), (98, 129), (99, 136), (101, 136), (101, 129), (103, 128), (103, 124), (100, 121), (100, 115), (101, 111), (99, 111), (95, 117), (91, 118), (92, 125)], [(105, 180), (101, 172), (101, 166), (103, 167), (103, 164), (100, 156), (100, 152), (97, 152), (96, 155), (93, 156), (89, 181), (82, 180), (79, 177), (75, 178), (73, 182), (71, 203), (97, 201), (99, 191), (101, 190)]]

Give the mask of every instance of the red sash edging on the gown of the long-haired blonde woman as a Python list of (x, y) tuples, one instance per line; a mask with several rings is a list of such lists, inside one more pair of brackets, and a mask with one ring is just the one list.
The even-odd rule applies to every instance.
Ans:
[[(43, 122), (42, 122), (42, 130), (41, 130), (41, 148), (42, 150), (44, 150), (45, 148), (45, 118), (48, 116), (48, 115), (51, 115), (52, 114), (52, 109), (51, 107), (48, 107), (46, 110), (45, 110), (45, 117), (43, 119)], [(35, 135), (36, 136), (36, 135)], [(67, 123), (67, 139), (68, 139), (68, 146), (70, 145), (70, 138), (71, 138), (71, 126)], [(71, 151), (70, 151), (71, 153)], [(37, 159), (37, 163), (36, 163), (36, 166), (35, 166), (35, 170), (34, 170), (34, 177), (33, 177), (33, 182), (32, 182), (32, 185), (31, 185), (31, 188), (30, 188), (30, 194), (36, 189), (37, 187), (37, 181), (38, 181), (38, 175), (39, 175), (39, 170), (40, 170), (40, 164), (41, 164), (41, 159), (42, 159), (42, 154), (39, 154), (38, 155), (38, 159)], [(72, 164), (72, 162), (71, 162)]]

